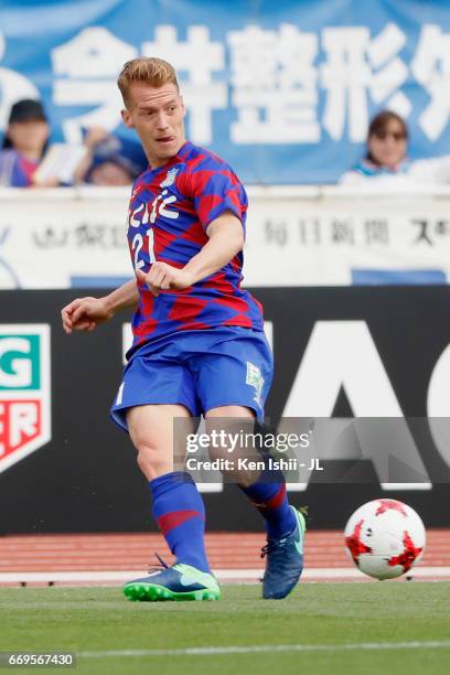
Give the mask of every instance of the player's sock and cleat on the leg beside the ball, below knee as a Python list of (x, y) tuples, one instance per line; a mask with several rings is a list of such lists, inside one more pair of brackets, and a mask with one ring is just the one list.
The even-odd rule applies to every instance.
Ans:
[(268, 468), (256, 483), (240, 489), (266, 521), (267, 556), (262, 579), (262, 598), (281, 600), (293, 589), (303, 571), (304, 514), (288, 502), (281, 471)]

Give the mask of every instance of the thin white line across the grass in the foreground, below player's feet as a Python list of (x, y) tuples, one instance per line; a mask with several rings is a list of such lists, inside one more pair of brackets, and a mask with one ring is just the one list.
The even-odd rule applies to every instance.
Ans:
[(444, 642), (360, 642), (346, 644), (249, 644), (246, 646), (186, 647), (184, 650), (115, 650), (107, 652), (78, 652), (84, 658), (138, 656), (210, 656), (217, 654), (255, 654), (267, 652), (351, 652), (354, 650), (450, 650)]

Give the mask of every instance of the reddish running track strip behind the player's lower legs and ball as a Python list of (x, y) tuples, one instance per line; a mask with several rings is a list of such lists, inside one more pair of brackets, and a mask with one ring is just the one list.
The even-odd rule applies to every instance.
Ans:
[[(420, 566), (450, 568), (450, 529), (429, 529)], [(206, 548), (213, 569), (262, 569), (262, 534), (212, 533)], [(58, 534), (0, 536), (1, 572), (142, 571), (172, 556), (160, 534)], [(306, 569), (352, 568), (340, 532), (308, 532)]]

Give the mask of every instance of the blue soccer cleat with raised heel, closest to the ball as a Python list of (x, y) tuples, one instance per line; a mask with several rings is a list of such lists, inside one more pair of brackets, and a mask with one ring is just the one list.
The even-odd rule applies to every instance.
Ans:
[(262, 598), (281, 600), (293, 589), (303, 571), (303, 540), (307, 531), (304, 512), (297, 511), (296, 527), (281, 539), (268, 539), (261, 549), (261, 558), (267, 556), (262, 579)]

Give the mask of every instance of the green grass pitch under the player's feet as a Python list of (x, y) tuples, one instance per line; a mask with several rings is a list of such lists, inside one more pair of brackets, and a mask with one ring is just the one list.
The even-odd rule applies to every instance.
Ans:
[(229, 585), (219, 602), (161, 603), (120, 588), (2, 588), (0, 625), (0, 651), (76, 652), (72, 673), (450, 673), (450, 582), (302, 583), (283, 601)]

